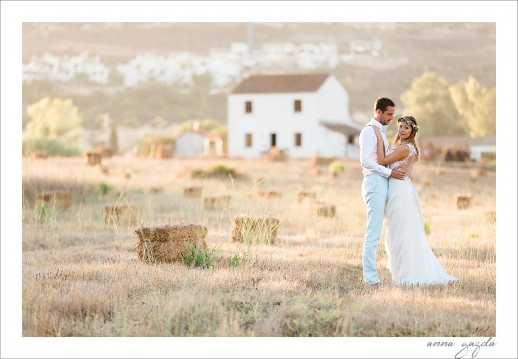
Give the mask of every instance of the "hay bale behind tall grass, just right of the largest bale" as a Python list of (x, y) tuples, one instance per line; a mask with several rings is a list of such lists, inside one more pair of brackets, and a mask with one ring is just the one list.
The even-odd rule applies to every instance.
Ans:
[(276, 218), (253, 218), (237, 216), (232, 218), (232, 242), (274, 244), (280, 221)]

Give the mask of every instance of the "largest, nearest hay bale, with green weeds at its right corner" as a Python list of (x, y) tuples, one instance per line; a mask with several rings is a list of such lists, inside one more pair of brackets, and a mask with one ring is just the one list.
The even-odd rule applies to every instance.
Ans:
[(135, 230), (138, 242), (135, 250), (142, 262), (173, 262), (182, 259), (186, 246), (207, 249), (207, 227), (201, 225), (166, 225)]

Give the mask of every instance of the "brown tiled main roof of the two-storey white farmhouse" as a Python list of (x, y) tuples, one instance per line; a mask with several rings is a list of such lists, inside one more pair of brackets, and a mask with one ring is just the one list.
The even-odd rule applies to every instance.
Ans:
[(315, 92), (329, 73), (253, 75), (239, 83), (232, 94)]

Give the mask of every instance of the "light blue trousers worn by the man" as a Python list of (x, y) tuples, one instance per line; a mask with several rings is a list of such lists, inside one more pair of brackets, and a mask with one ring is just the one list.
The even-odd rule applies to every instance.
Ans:
[(363, 281), (381, 283), (376, 270), (376, 246), (383, 229), (383, 213), (389, 192), (389, 178), (372, 173), (363, 178), (362, 196), (367, 205), (367, 230), (363, 244)]

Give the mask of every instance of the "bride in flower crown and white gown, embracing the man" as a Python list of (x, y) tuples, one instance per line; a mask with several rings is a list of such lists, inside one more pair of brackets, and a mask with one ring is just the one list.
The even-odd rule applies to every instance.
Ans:
[(404, 181), (389, 178), (389, 195), (385, 207), (385, 251), (389, 255), (387, 268), (397, 285), (426, 286), (458, 280), (444, 270), (431, 251), (424, 233), (424, 218), (416, 188), (410, 182), (419, 146), (415, 134), (419, 131), (413, 116), (397, 119), (398, 133), (394, 151), (385, 157), (381, 131), (372, 126), (378, 139), (378, 163), (390, 168), (401, 165), (407, 171)]

